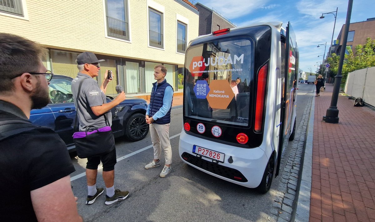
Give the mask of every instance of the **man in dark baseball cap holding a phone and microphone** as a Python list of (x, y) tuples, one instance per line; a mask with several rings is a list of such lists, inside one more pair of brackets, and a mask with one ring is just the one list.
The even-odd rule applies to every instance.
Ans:
[[(121, 92), (115, 100), (107, 103), (105, 91), (108, 83), (111, 81), (111, 79), (107, 78), (108, 71), (105, 72), (103, 83), (100, 87), (94, 79), (99, 75), (99, 62), (103, 61), (98, 60), (92, 52), (83, 52), (77, 56), (76, 62), (79, 72), (77, 77), (72, 81), (72, 93), (80, 120), (80, 131), (85, 131), (88, 126), (95, 126), (97, 128), (111, 126), (111, 109), (126, 99), (125, 93)], [(82, 84), (79, 90), (80, 83)], [(113, 204), (125, 199), (129, 195), (129, 191), (114, 189), (114, 166), (116, 164), (114, 141), (109, 141), (108, 146), (113, 147), (113, 149), (107, 153), (87, 157), (86, 179), (88, 195), (86, 204), (93, 204), (95, 199), (104, 192), (104, 188), (96, 188), (96, 176), (100, 162), (103, 163), (103, 179), (107, 192), (105, 204)]]

